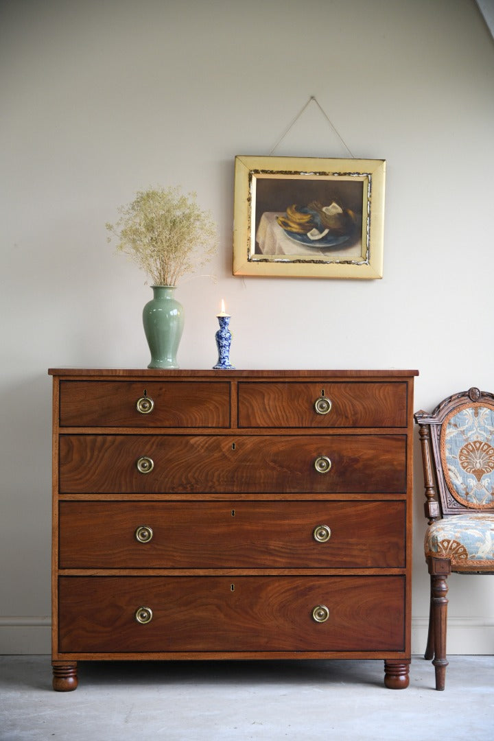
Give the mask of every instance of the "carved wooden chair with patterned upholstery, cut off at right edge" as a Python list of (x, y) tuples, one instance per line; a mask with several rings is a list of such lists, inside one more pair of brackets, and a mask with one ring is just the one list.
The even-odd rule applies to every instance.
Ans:
[(415, 413), (424, 465), (430, 574), (426, 659), (446, 678), (447, 576), (494, 574), (494, 395), (478, 388)]

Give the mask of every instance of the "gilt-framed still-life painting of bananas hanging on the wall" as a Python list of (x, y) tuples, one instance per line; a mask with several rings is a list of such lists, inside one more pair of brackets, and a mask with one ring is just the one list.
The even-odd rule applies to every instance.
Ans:
[(383, 159), (235, 158), (233, 274), (382, 278)]

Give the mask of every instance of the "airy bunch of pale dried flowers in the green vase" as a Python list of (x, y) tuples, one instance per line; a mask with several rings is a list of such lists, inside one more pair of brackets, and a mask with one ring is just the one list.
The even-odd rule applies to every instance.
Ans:
[(196, 193), (184, 195), (179, 187), (140, 190), (119, 214), (107, 230), (119, 240), (117, 250), (130, 256), (153, 285), (176, 285), (216, 253), (216, 224), (210, 211), (198, 207)]

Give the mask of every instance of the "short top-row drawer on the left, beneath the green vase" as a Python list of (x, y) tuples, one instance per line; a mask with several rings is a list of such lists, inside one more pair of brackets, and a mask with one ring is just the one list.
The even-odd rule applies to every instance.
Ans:
[(61, 427), (230, 427), (230, 384), (61, 381)]

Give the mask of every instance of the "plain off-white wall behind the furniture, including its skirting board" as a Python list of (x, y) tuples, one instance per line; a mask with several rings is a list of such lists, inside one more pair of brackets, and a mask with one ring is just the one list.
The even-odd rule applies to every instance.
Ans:
[[(493, 83), (473, 0), (3, 1), (1, 652), (50, 650), (47, 368), (148, 362), (150, 289), (107, 245), (116, 207), (181, 185), (218, 222), (216, 283), (179, 289), (182, 368), (216, 362), (224, 298), (238, 368), (418, 368), (415, 409), (492, 391)], [(355, 156), (387, 160), (384, 279), (233, 277), (234, 156), (268, 155), (312, 95)], [(347, 156), (315, 104), (275, 153)], [(493, 586), (450, 578), (450, 652), (494, 653)]]

